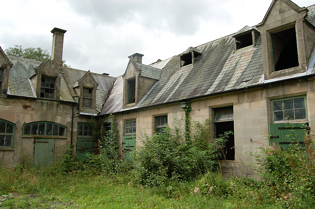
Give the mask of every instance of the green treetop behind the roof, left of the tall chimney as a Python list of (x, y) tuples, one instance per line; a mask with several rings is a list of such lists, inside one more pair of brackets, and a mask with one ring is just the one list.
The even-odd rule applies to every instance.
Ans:
[(22, 49), (22, 46), (15, 45), (14, 48), (10, 47), (4, 51), (7, 55), (23, 57), (27, 59), (34, 59), (38, 61), (44, 61), (50, 58), (50, 54), (47, 50), (42, 50), (38, 48), (26, 48)]

